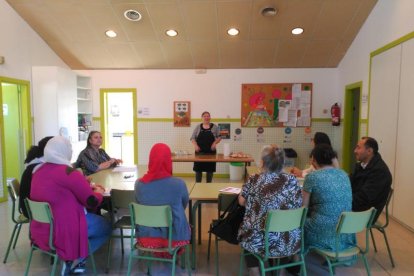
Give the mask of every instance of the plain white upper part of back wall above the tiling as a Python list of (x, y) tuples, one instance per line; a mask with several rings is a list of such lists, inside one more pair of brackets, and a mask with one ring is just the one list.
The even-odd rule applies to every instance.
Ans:
[[(338, 100), (336, 69), (238, 69), (207, 70), (97, 70), (93, 81), (94, 116), (99, 116), (100, 88), (137, 88), (138, 109), (149, 108), (149, 118), (172, 118), (176, 100), (191, 101), (192, 118), (200, 118), (205, 110), (214, 118), (240, 118), (241, 84), (312, 82), (312, 116), (328, 118)], [(143, 117), (138, 115), (138, 117)]]

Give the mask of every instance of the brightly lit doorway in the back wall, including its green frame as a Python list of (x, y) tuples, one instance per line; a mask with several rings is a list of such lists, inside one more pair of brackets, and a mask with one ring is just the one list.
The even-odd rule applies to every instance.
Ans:
[(136, 89), (101, 89), (101, 132), (109, 156), (138, 164)]

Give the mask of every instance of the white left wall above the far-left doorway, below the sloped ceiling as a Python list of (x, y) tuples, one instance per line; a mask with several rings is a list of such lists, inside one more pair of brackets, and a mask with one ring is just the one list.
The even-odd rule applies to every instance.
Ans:
[(0, 76), (31, 80), (32, 66), (67, 65), (49, 48), (40, 36), (9, 6), (0, 0)]

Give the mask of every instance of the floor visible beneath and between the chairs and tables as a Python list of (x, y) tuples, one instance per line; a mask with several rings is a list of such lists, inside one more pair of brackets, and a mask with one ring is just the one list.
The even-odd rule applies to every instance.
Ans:
[[(222, 179), (217, 181), (223, 182)], [(10, 220), (11, 204), (0, 204), (0, 240), (1, 259), (7, 249), (14, 224)], [(214, 275), (214, 243), (212, 246), (212, 255), (210, 262), (207, 262), (207, 239), (208, 225), (211, 219), (216, 215), (216, 206), (209, 204), (203, 206), (203, 240), (202, 245), (197, 247), (197, 269), (193, 271), (193, 275)], [(28, 227), (24, 225), (16, 249), (11, 250), (7, 264), (0, 266), (0, 275), (23, 275), (26, 260), (29, 252)], [(392, 247), (392, 253), (396, 262), (396, 267), (392, 269), (385, 244), (382, 236), (378, 232), (375, 233), (378, 253), (373, 250), (369, 253), (369, 264), (371, 266), (372, 275), (414, 275), (414, 233), (408, 231), (400, 224), (391, 221), (387, 229), (389, 242)], [(129, 240), (125, 239), (125, 254), (121, 254), (120, 241), (115, 239), (112, 248), (112, 268), (108, 275), (126, 275), (129, 256)], [(106, 249), (101, 248), (96, 254), (95, 259), (99, 275), (105, 275)], [(239, 267), (239, 247), (235, 245), (220, 242), (220, 275), (237, 275)], [(372, 249), (372, 247), (370, 248)], [(413, 258), (413, 259), (412, 259)], [(329, 275), (326, 268), (320, 264), (322, 260), (315, 256), (307, 256), (307, 272), (308, 275)], [(49, 258), (38, 252), (34, 254), (30, 275), (49, 275), (50, 273)], [(60, 270), (59, 270), (60, 271)], [(88, 273), (87, 275), (92, 275)], [(134, 263), (132, 275), (145, 275), (145, 266)], [(170, 275), (170, 267), (168, 265), (156, 264), (153, 268), (153, 275)], [(184, 270), (177, 268), (177, 275), (186, 275)], [(338, 268), (337, 275), (366, 275), (362, 262), (358, 262), (354, 267)]]

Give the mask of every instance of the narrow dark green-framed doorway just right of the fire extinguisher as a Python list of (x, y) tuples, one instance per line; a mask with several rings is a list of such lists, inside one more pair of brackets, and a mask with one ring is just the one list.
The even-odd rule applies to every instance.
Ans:
[(358, 82), (345, 88), (342, 168), (348, 173), (352, 172), (356, 162), (354, 148), (359, 139), (361, 87), (362, 82)]

